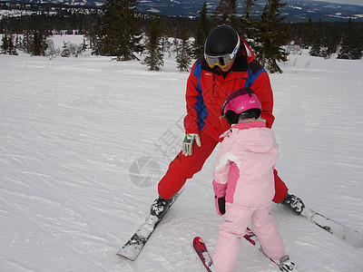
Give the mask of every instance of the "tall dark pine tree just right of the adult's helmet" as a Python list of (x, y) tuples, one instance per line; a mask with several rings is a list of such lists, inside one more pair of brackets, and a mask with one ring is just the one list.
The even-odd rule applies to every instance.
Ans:
[[(282, 73), (277, 62), (286, 62), (287, 53), (283, 45), (289, 40), (289, 28), (282, 24), (285, 16), (281, 16), (280, 8), (286, 3), (280, 0), (268, 0), (261, 15), (259, 24), (259, 34), (256, 37), (256, 53), (260, 58), (260, 63), (270, 71), (270, 73)], [(256, 48), (255, 48), (256, 49)]]

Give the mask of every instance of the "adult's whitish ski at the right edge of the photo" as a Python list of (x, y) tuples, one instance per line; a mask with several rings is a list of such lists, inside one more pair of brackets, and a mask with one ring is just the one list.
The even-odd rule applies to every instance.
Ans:
[(354, 230), (352, 228), (348, 228), (345, 225), (342, 225), (332, 219), (329, 219), (318, 212), (304, 208), (300, 214), (303, 218), (308, 219), (310, 222), (327, 230), (329, 233), (334, 235), (335, 237), (347, 242), (350, 246), (355, 248), (363, 248), (363, 234)]

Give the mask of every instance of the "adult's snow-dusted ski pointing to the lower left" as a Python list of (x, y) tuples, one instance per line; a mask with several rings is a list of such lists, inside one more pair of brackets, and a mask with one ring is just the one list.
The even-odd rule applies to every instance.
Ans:
[[(181, 193), (182, 190), (172, 197), (169, 209)], [(162, 218), (158, 218), (156, 215), (150, 214), (142, 226), (136, 230), (136, 232), (132, 235), (132, 238), (124, 244), (123, 248), (121, 248), (116, 255), (128, 258), (132, 261), (135, 260), (161, 220)]]

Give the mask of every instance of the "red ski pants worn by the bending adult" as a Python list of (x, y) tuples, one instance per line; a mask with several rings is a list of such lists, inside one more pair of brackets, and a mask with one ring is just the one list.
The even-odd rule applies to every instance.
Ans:
[[(185, 157), (181, 151), (169, 164), (169, 169), (158, 185), (159, 195), (163, 199), (171, 199), (176, 192), (182, 189), (186, 180), (191, 179), (195, 173), (201, 170), (205, 160), (211, 156), (211, 152), (214, 151), (219, 142), (207, 134), (201, 133), (200, 137), (201, 147), (194, 144), (191, 156)], [(277, 170), (274, 170), (274, 176), (275, 197), (272, 200), (279, 203), (285, 198), (288, 188), (278, 176)]]

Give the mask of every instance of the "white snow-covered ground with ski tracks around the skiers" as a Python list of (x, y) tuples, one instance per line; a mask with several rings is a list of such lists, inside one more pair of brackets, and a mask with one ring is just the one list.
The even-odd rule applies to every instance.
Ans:
[[(82, 43), (82, 36), (57, 36)], [(0, 270), (204, 271), (223, 220), (211, 187), (216, 151), (189, 180), (140, 256), (115, 254), (147, 218), (183, 138), (189, 73), (139, 62), (0, 55)], [(363, 61), (290, 55), (271, 74), (277, 165), (289, 191), (363, 232)], [(281, 205), (271, 210), (299, 271), (362, 271), (353, 248)], [(242, 241), (236, 271), (279, 271)]]

